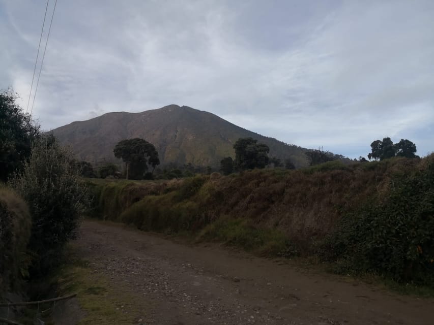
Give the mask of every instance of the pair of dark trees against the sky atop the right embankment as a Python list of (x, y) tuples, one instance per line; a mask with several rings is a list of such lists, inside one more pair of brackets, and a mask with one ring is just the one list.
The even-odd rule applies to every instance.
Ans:
[(401, 139), (398, 143), (393, 144), (388, 137), (383, 138), (383, 141), (375, 140), (371, 143), (371, 152), (368, 154), (368, 158), (374, 160), (383, 160), (395, 156), (416, 158), (415, 152), (416, 145), (413, 142)]

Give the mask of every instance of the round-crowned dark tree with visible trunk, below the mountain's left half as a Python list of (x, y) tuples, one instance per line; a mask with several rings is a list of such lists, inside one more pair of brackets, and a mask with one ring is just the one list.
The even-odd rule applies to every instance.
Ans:
[(160, 164), (154, 145), (143, 139), (122, 140), (114, 147), (113, 152), (115, 157), (124, 161), (127, 179), (129, 173), (132, 179), (142, 179), (148, 171), (148, 165), (152, 166), (153, 173), (155, 166)]

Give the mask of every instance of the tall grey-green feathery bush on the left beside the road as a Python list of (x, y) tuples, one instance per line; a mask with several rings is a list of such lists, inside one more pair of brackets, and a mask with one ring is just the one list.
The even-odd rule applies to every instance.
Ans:
[(38, 258), (33, 275), (45, 274), (56, 264), (67, 241), (74, 238), (86, 203), (86, 191), (71, 164), (72, 154), (54, 138), (43, 138), (11, 185), (28, 203), (32, 214), (29, 249)]

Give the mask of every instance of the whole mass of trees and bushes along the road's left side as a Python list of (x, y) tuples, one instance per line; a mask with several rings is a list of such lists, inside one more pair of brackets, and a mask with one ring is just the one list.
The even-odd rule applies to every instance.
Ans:
[[(12, 90), (0, 93), (0, 301), (40, 299), (50, 270), (59, 266), (88, 206), (86, 188), (72, 153), (50, 134), (41, 134), (16, 104)], [(35, 288), (38, 288), (35, 290)], [(10, 302), (10, 300), (8, 300)], [(15, 301), (16, 302), (16, 301)], [(30, 310), (32, 315), (24, 315)], [(38, 321), (35, 310), (7, 315)]]

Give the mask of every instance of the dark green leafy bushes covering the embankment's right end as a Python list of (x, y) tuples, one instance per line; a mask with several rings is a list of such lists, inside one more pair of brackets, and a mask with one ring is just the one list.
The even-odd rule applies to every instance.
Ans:
[(434, 285), (434, 156), (395, 174), (385, 197), (342, 217), (326, 250), (344, 272)]

